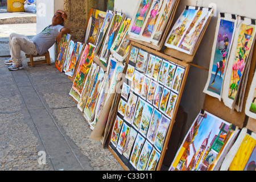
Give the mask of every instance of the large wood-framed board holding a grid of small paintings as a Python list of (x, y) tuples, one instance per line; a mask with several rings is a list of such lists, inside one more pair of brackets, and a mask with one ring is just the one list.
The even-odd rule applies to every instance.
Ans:
[(188, 71), (185, 61), (131, 42), (107, 143), (124, 169), (160, 170)]

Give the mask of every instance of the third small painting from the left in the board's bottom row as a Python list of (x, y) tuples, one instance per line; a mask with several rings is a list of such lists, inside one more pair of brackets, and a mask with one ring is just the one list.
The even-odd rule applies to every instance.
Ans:
[(135, 139), (137, 137), (137, 131), (133, 129), (133, 127), (130, 127), (130, 132), (127, 135), (125, 146), (123, 147), (123, 156), (125, 156), (126, 159), (130, 158), (131, 150), (133, 149), (133, 144), (135, 142)]

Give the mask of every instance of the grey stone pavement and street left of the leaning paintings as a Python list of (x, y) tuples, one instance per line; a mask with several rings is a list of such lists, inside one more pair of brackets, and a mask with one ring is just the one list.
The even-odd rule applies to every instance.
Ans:
[[(15, 26), (35, 35), (35, 24)], [(24, 69), (9, 71), (3, 61), (10, 58), (10, 28), (0, 25), (0, 170), (122, 171), (101, 142), (89, 139), (92, 131), (69, 96), (72, 81), (54, 63), (31, 68), (22, 53)], [(42, 154), (46, 164), (39, 164)]]

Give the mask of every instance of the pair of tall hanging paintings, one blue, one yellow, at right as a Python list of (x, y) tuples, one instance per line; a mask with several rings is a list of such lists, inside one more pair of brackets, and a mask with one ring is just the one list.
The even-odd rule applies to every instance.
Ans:
[(204, 92), (242, 110), (255, 42), (255, 21), (221, 13), (218, 16), (210, 72)]

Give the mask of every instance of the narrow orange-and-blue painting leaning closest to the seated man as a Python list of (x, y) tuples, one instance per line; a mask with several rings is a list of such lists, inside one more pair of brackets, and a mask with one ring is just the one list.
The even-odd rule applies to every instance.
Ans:
[(66, 55), (67, 55), (67, 50), (69, 46), (69, 41), (71, 40), (71, 35), (70, 34), (64, 34), (61, 38), (60, 42), (60, 48), (58, 51), (58, 56), (55, 61), (55, 68), (59, 70), (60, 72), (63, 72), (63, 65), (65, 63)]

